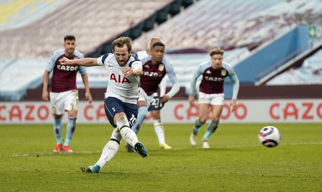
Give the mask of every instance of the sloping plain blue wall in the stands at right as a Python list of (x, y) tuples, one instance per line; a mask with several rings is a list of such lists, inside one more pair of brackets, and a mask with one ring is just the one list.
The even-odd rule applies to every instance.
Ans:
[[(253, 54), (235, 66), (241, 83), (261, 84), (271, 77), (277, 68), (306, 51), (311, 51), (318, 42), (308, 38), (308, 27), (299, 26), (274, 41), (270, 41), (254, 50)], [(276, 74), (275, 74), (276, 75)]]

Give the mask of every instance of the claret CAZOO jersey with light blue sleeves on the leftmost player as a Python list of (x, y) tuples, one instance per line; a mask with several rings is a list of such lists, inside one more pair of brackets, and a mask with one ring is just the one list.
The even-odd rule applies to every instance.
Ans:
[[(86, 74), (86, 67), (75, 65), (61, 65), (59, 59), (66, 57), (65, 49), (59, 49), (54, 51), (48, 61), (46, 70), (52, 73), (50, 91), (52, 92), (64, 92), (68, 90), (76, 89), (76, 74), (77, 71), (83, 75)], [(68, 59), (82, 59), (83, 54), (77, 50)]]

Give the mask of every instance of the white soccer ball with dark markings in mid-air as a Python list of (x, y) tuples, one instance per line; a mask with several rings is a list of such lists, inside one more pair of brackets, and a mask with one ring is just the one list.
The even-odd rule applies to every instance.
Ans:
[(259, 132), (258, 139), (265, 147), (276, 147), (281, 142), (281, 133), (276, 127), (266, 126)]

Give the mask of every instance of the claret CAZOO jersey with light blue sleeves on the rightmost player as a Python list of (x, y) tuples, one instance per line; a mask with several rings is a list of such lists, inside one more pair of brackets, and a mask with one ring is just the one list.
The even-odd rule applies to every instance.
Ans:
[(224, 61), (221, 68), (216, 70), (212, 68), (211, 61), (201, 63), (198, 70), (194, 72), (193, 78), (197, 79), (200, 75), (202, 75), (202, 80), (199, 91), (206, 94), (223, 93), (223, 83), (227, 76), (232, 82), (238, 81), (233, 67)]

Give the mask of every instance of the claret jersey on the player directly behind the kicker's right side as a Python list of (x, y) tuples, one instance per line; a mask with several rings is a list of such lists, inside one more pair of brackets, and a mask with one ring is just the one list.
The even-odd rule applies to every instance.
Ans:
[(162, 62), (156, 65), (152, 64), (151, 58), (152, 56), (150, 55), (141, 59), (143, 72), (140, 87), (143, 88), (147, 95), (157, 91), (158, 85), (166, 74), (168, 74), (172, 84), (178, 82), (174, 68), (166, 57), (163, 57)]

